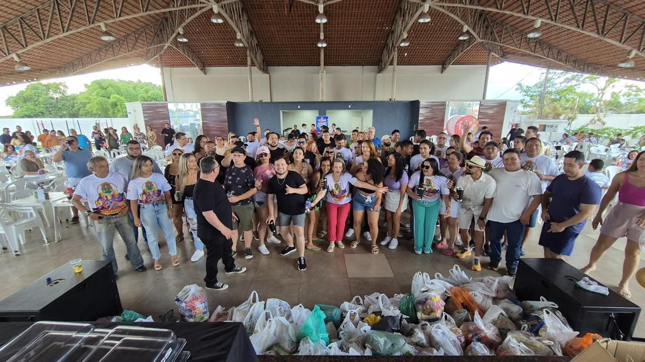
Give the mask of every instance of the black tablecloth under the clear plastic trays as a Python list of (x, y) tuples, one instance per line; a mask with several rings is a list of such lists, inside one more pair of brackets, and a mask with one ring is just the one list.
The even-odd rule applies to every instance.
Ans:
[[(184, 350), (190, 351), (193, 362), (253, 362), (255, 350), (246, 336), (242, 323), (219, 322), (151, 322), (151, 323), (93, 323), (97, 328), (112, 329), (118, 325), (137, 325), (170, 329), (177, 338), (186, 339)], [(32, 323), (0, 323), (0, 345), (5, 345), (26, 330)], [(126, 361), (124, 361), (126, 362)], [(144, 361), (136, 361), (144, 362)]]

